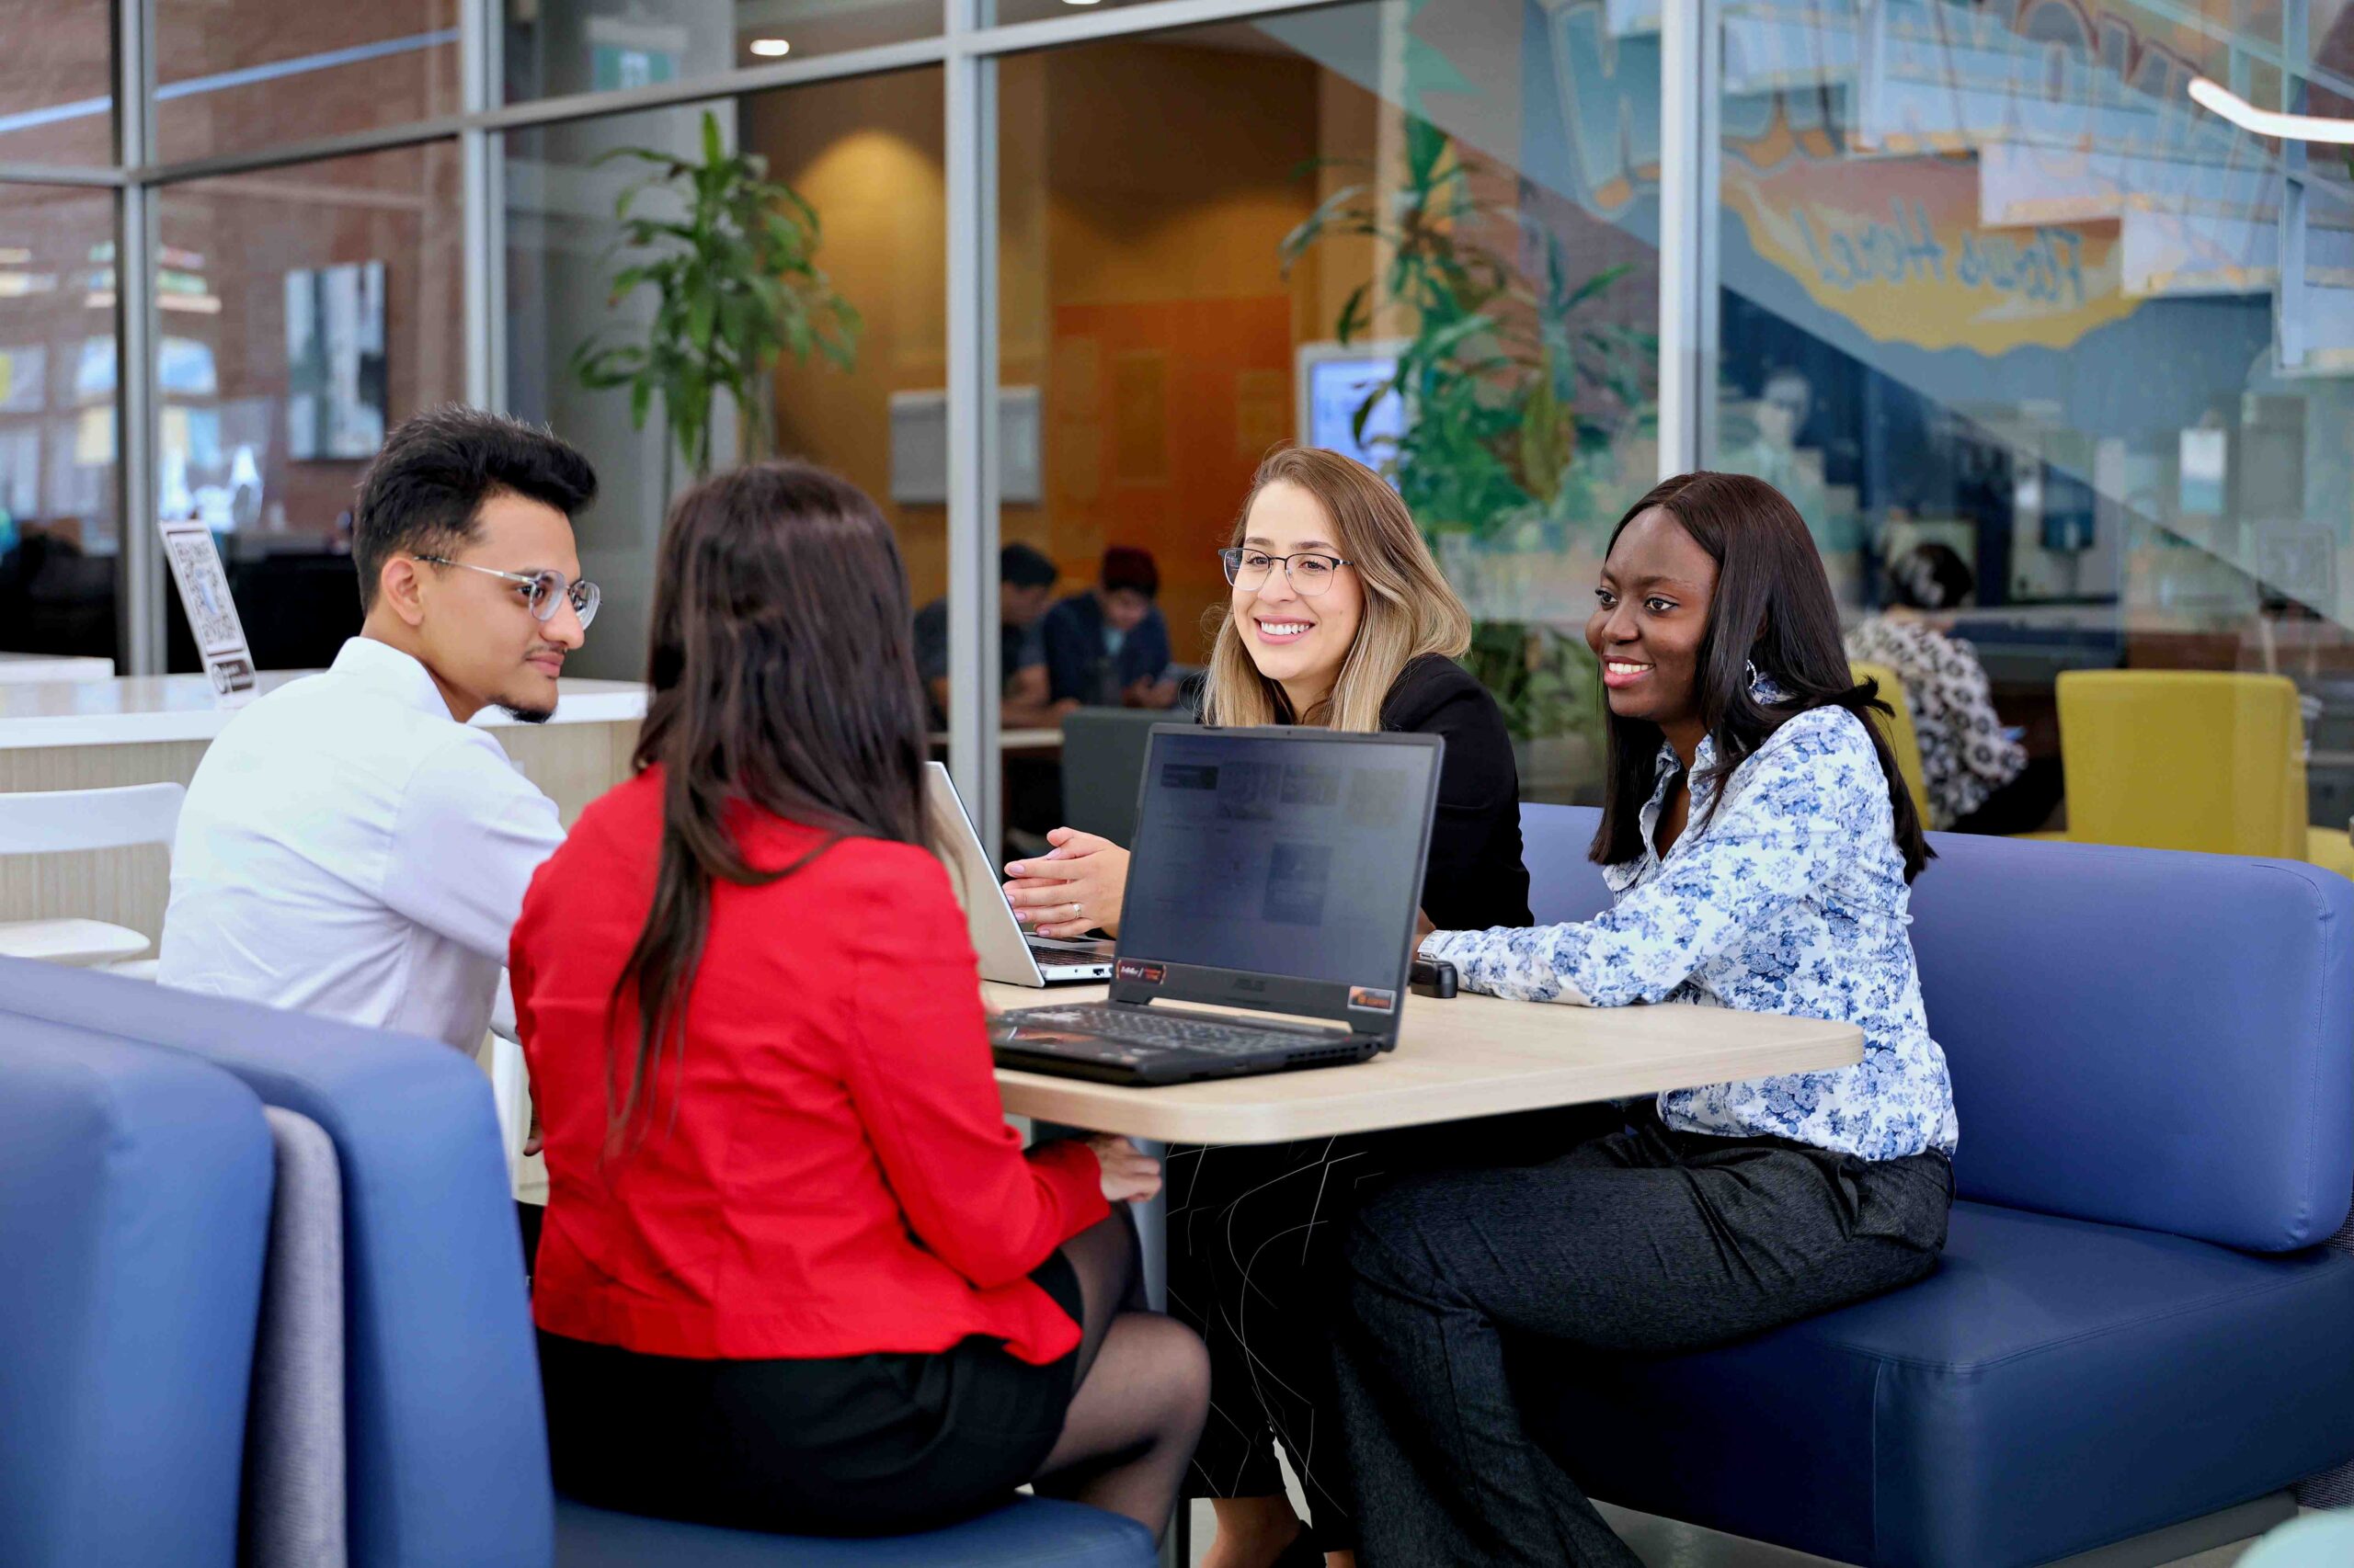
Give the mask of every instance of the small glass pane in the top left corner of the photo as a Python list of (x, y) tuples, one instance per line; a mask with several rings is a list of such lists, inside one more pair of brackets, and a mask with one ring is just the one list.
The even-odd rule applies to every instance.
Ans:
[(0, 0), (0, 162), (113, 162), (113, 7)]

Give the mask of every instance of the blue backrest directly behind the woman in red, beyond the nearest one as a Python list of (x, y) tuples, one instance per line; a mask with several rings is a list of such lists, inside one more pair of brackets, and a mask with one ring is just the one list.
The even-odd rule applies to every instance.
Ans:
[(327, 1130), (344, 1180), (351, 1563), (544, 1568), (548, 1429), (483, 1069), (440, 1041), (0, 958), (0, 1031), (24, 1019), (186, 1052)]

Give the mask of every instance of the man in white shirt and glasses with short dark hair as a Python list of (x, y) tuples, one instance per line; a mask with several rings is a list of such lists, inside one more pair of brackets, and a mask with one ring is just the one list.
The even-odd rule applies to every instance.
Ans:
[(238, 713), (172, 845), (158, 979), (447, 1041), (490, 1026), (556, 803), (468, 727), (541, 723), (598, 591), (572, 513), (588, 459), (466, 407), (393, 431), (360, 480), (360, 636)]

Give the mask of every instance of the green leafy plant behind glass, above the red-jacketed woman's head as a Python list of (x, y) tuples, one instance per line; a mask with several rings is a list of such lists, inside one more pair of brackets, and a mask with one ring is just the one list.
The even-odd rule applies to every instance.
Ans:
[[(765, 158), (730, 153), (709, 111), (701, 151), (699, 162), (647, 146), (598, 158), (647, 165), (614, 200), (621, 233), (607, 257), (626, 261), (612, 273), (610, 304), (652, 290), (654, 315), (643, 327), (605, 327), (572, 353), (584, 386), (629, 386), (636, 428), (659, 398), (671, 443), (697, 478), (711, 473), (720, 391), (737, 407), (744, 459), (758, 461), (777, 428), (777, 363), (819, 353), (850, 370), (862, 332), (857, 306), (817, 266), (817, 210), (767, 179)], [(654, 193), (671, 202), (650, 202)]]

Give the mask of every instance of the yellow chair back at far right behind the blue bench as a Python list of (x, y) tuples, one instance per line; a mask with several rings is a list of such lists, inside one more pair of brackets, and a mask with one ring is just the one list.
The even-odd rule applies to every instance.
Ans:
[(2267, 855), (2354, 876), (2345, 829), (2305, 822), (2305, 716), (2286, 676), (2067, 671), (2060, 758), (2074, 843)]

